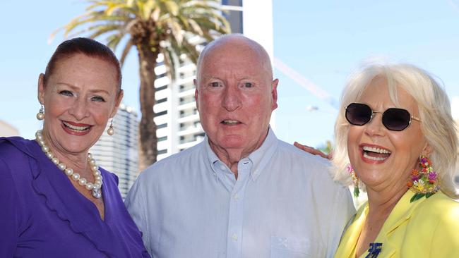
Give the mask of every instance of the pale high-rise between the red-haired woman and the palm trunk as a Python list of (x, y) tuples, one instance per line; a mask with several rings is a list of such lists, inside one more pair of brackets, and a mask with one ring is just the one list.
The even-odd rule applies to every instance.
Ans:
[(114, 135), (107, 134), (108, 123), (105, 132), (90, 149), (97, 165), (117, 174), (123, 199), (138, 176), (137, 116), (130, 106), (119, 105), (113, 118)]

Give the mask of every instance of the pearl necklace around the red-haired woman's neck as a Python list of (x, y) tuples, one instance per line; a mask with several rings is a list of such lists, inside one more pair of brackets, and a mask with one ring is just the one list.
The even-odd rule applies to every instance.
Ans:
[(51, 152), (51, 149), (49, 149), (49, 147), (46, 145), (46, 142), (44, 142), (42, 130), (37, 130), (37, 133), (35, 133), (35, 140), (38, 142), (38, 145), (42, 147), (42, 151), (44, 152), (44, 154), (61, 171), (64, 171), (64, 173), (67, 176), (69, 176), (72, 180), (78, 181), (78, 185), (84, 186), (87, 190), (90, 190), (93, 194), (93, 197), (98, 199), (102, 196), (102, 191), (100, 190), (100, 188), (102, 188), (102, 174), (99, 171), (99, 166), (97, 166), (97, 164), (95, 163), (95, 159), (93, 159), (93, 155), (88, 153), (88, 163), (90, 164), (91, 171), (93, 171), (93, 175), (95, 178), (94, 183), (90, 183), (86, 178), (81, 177), (79, 173), (73, 173), (72, 168), (68, 168), (66, 164), (60, 162), (59, 159), (56, 156), (54, 156), (54, 154)]

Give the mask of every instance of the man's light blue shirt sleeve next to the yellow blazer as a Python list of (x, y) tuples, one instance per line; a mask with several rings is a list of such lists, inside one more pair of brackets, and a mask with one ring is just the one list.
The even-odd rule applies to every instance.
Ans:
[(333, 202), (332, 209), (330, 209), (330, 228), (326, 257), (334, 257), (345, 226), (354, 214), (355, 207), (349, 188), (340, 187), (335, 192), (335, 202)]

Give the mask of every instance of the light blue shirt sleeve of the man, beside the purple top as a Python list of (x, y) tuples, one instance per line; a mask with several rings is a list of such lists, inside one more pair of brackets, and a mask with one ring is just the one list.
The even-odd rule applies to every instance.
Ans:
[(150, 246), (150, 233), (148, 231), (148, 220), (145, 216), (146, 209), (148, 206), (145, 204), (145, 192), (143, 192), (142, 185), (140, 183), (139, 176), (136, 180), (136, 183), (132, 185), (131, 190), (129, 190), (124, 204), (131, 214), (133, 221), (136, 223), (138, 229), (141, 231), (143, 244), (145, 245), (146, 250), (153, 257), (153, 249)]

